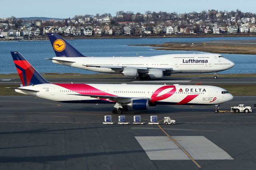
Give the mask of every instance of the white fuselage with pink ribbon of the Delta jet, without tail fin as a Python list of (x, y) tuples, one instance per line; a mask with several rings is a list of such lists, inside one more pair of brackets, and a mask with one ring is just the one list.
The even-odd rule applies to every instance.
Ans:
[(152, 104), (178, 105), (216, 105), (232, 100), (233, 96), (216, 86), (195, 85), (148, 85), (148, 84), (38, 84), (24, 86), (28, 92), (15, 90), (22, 94), (36, 96), (47, 100), (70, 103), (116, 103), (108, 99), (93, 98), (82, 95), (120, 96), (120, 103), (130, 102), (136, 98), (148, 98)]

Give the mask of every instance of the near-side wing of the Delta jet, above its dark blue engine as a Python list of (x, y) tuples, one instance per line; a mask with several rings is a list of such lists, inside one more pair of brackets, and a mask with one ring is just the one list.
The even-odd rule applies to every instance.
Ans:
[(115, 102), (130, 102), (132, 100), (136, 99), (147, 99), (150, 100), (151, 98), (146, 98), (146, 97), (123, 97), (123, 96), (103, 96), (103, 95), (92, 95), (92, 94), (70, 94), (70, 95), (76, 95), (76, 96), (88, 96), (91, 98), (98, 98), (98, 99), (108, 99), (110, 101), (115, 101)]

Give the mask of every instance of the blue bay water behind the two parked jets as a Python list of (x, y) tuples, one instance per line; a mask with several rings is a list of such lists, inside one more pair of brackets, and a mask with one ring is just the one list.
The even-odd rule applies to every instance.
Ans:
[[(151, 47), (127, 46), (129, 44), (163, 44), (164, 42), (204, 42), (214, 40), (256, 40), (256, 37), (214, 37), (214, 38), (123, 38), (123, 39), (79, 39), (68, 41), (85, 56), (154, 56), (161, 54), (193, 53), (192, 51), (152, 50)], [(53, 64), (50, 60), (55, 53), (49, 41), (0, 42), (0, 74), (16, 73), (10, 51), (19, 51), (40, 73), (95, 72)], [(202, 53), (202, 52), (194, 52)], [(256, 73), (256, 55), (222, 54), (236, 65), (223, 74)]]

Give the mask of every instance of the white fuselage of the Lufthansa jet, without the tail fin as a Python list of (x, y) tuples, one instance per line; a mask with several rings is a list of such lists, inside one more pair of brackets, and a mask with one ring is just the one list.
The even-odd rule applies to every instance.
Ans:
[[(74, 63), (52, 60), (75, 68), (81, 68), (101, 73), (122, 73), (123, 68), (138, 68), (139, 73), (149, 69), (161, 69), (164, 73), (210, 73), (227, 70), (234, 63), (219, 54), (166, 54), (151, 57), (54, 57), (56, 60), (66, 60)], [(100, 66), (100, 67), (99, 67)], [(113, 68), (102, 68), (113, 67)], [(122, 68), (114, 68), (122, 67)], [(140, 69), (140, 68), (146, 68)]]

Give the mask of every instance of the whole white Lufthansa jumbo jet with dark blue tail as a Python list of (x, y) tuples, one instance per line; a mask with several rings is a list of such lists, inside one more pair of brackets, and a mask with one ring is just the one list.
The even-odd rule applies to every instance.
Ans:
[(151, 57), (86, 57), (57, 33), (48, 33), (56, 57), (53, 63), (94, 72), (137, 78), (162, 78), (175, 73), (217, 73), (235, 64), (219, 54), (166, 54)]

